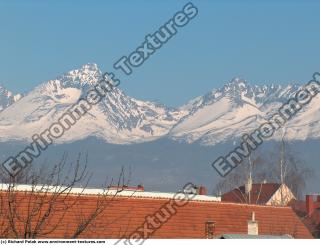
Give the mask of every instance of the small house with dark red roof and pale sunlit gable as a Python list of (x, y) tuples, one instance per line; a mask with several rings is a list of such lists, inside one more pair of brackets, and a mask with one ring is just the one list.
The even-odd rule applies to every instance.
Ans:
[(285, 184), (257, 183), (237, 187), (221, 196), (223, 202), (250, 203), (263, 205), (288, 205), (295, 199)]

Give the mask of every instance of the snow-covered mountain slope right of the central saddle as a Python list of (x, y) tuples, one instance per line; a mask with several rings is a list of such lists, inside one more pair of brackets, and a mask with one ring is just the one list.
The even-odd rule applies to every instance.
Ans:
[(184, 105), (189, 114), (172, 128), (170, 137), (205, 145), (239, 138), (265, 122), (298, 89), (298, 85), (251, 86), (235, 78)]

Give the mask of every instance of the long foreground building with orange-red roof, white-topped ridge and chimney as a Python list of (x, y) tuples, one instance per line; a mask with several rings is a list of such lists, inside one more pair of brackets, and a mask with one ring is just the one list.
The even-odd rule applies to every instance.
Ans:
[[(70, 238), (73, 232), (83, 227), (83, 217), (88, 217), (96, 208), (97, 200), (105, 190), (72, 188), (68, 194), (54, 198), (58, 204), (50, 207), (55, 187), (49, 191), (27, 185), (16, 186), (13, 190), (2, 185), (0, 200), (1, 229), (8, 224), (12, 210), (9, 207), (15, 196), (14, 230), (3, 238), (16, 238), (25, 232), (25, 220), (30, 220), (30, 229), (39, 225), (40, 217), (45, 217), (46, 225), (37, 230), (37, 238)], [(104, 208), (94, 216), (86, 229), (77, 238), (124, 239), (131, 241), (147, 238), (159, 239), (208, 239), (233, 236), (313, 238), (305, 224), (292, 207), (265, 204), (221, 202), (218, 197), (206, 195), (205, 188), (178, 193), (147, 192), (143, 188), (108, 190)], [(38, 199), (38, 197), (41, 197)], [(43, 203), (40, 213), (32, 210)], [(77, 201), (75, 201), (77, 200)], [(64, 205), (72, 205), (65, 209)], [(12, 202), (11, 202), (12, 206)], [(48, 212), (50, 210), (50, 212)], [(43, 214), (43, 215), (42, 215)], [(91, 217), (91, 216), (90, 216)], [(30, 218), (30, 219), (29, 219)], [(41, 219), (40, 219), (41, 220)], [(5, 234), (5, 233), (2, 233)], [(20, 238), (20, 237), (19, 237)], [(136, 243), (133, 243), (136, 244)]]

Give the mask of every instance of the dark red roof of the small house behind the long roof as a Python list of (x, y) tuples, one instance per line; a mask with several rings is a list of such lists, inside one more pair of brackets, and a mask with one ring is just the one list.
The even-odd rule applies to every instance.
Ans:
[[(280, 184), (252, 184), (250, 199), (253, 204), (266, 204), (273, 194), (280, 188)], [(245, 193), (245, 187), (240, 186), (222, 195), (224, 202), (248, 203), (249, 195)]]

